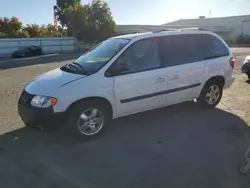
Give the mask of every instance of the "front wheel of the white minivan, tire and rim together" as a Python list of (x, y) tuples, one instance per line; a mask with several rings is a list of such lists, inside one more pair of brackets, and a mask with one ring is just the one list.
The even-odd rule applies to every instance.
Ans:
[(97, 101), (84, 101), (76, 104), (70, 116), (69, 126), (83, 140), (101, 136), (111, 119), (105, 105)]

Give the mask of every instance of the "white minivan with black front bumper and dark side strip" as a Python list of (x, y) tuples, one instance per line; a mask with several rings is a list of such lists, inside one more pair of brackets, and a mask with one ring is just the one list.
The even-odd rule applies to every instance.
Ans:
[(18, 111), (28, 127), (48, 129), (67, 120), (90, 139), (118, 117), (193, 99), (213, 108), (232, 85), (234, 67), (226, 43), (209, 31), (122, 35), (31, 80)]

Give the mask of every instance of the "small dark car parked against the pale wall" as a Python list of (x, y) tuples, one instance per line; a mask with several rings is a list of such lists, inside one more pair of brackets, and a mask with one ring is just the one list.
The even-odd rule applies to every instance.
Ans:
[(35, 55), (41, 55), (42, 48), (40, 46), (24, 46), (19, 50), (14, 51), (11, 56), (12, 57), (29, 57)]

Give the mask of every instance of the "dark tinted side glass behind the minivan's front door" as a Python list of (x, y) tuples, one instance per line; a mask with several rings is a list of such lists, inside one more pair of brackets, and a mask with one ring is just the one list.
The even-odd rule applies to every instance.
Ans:
[(216, 37), (206, 34), (173, 35), (158, 38), (161, 61), (176, 66), (226, 56), (226, 46)]

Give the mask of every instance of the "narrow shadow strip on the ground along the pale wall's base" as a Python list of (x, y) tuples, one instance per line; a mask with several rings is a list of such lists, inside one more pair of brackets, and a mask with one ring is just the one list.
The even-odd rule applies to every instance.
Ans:
[(0, 62), (0, 70), (30, 66), (35, 64), (47, 64), (61, 61), (74, 60), (83, 53), (50, 54), (22, 59), (9, 59)]

